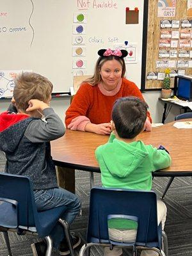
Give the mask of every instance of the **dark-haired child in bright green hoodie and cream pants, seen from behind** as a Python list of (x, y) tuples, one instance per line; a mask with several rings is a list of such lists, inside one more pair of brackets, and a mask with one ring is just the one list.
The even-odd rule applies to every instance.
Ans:
[[(166, 168), (171, 157), (164, 148), (155, 148), (137, 140), (145, 129), (147, 104), (136, 97), (116, 100), (112, 110), (112, 133), (108, 143), (96, 149), (96, 158), (101, 171), (102, 186), (105, 188), (152, 189), (152, 172)], [(157, 200), (158, 225), (166, 220), (166, 205)], [(113, 240), (128, 242), (130, 231), (124, 227), (109, 228)], [(121, 248), (104, 250), (105, 256), (122, 255)], [(151, 250), (143, 250), (141, 256), (158, 255)]]

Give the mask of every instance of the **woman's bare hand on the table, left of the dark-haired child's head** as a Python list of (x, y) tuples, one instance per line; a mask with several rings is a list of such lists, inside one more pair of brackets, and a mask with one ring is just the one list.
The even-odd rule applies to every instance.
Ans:
[(101, 135), (109, 135), (111, 134), (111, 123), (104, 124), (86, 124), (85, 131), (87, 132), (95, 132)]

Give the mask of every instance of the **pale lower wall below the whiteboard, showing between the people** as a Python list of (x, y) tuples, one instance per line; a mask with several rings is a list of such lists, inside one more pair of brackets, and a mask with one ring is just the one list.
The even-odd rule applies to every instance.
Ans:
[[(145, 98), (149, 111), (152, 115), (152, 120), (154, 123), (161, 123), (162, 115), (163, 115), (163, 104), (158, 101), (161, 92), (145, 92), (143, 93), (143, 97)], [(54, 111), (60, 116), (61, 120), (64, 120), (65, 111), (70, 104), (70, 97), (61, 97), (54, 98), (51, 101), (51, 107), (54, 108)], [(9, 106), (8, 100), (1, 100), (0, 102), (0, 113), (6, 111)], [(179, 108), (174, 107), (172, 111), (168, 115), (166, 122), (172, 122), (174, 120), (174, 116), (179, 114)]]

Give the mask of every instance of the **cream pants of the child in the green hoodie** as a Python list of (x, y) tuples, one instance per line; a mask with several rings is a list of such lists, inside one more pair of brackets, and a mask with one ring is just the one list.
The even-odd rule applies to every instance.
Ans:
[[(164, 223), (166, 220), (166, 205), (161, 200), (157, 200), (157, 220), (158, 225), (162, 223), (162, 229), (164, 229)], [(135, 237), (134, 230), (118, 230), (115, 228), (109, 228), (109, 236), (113, 238), (114, 241), (124, 241), (124, 243), (129, 243), (132, 237)], [(113, 248), (109, 250), (109, 247), (104, 248), (104, 256), (119, 256), (122, 255), (122, 248)], [(159, 255), (157, 252), (152, 250), (142, 250), (140, 256), (156, 256)]]

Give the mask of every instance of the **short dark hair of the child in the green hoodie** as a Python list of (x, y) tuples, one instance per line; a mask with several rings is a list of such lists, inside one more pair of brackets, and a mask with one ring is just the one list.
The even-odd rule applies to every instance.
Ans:
[(116, 100), (112, 110), (112, 120), (120, 138), (136, 137), (145, 125), (148, 105), (137, 97)]

